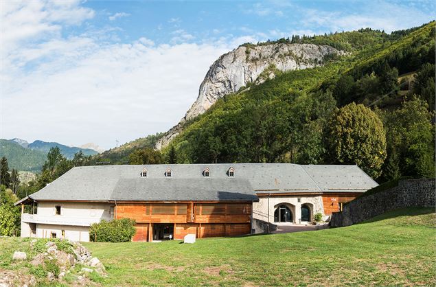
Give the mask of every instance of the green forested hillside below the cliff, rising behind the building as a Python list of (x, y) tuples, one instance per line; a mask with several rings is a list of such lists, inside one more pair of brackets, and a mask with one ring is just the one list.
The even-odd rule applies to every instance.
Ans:
[[(358, 163), (380, 179), (434, 176), (434, 22), (389, 35), (365, 29), (290, 41), (349, 55), (227, 95), (163, 152), (174, 149), (184, 163)], [(365, 108), (346, 106), (352, 102)]]

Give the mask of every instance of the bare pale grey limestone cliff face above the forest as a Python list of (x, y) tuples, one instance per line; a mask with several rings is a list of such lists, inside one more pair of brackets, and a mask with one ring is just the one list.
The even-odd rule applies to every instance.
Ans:
[(200, 84), (197, 100), (181, 122), (156, 143), (156, 148), (167, 146), (183, 130), (187, 119), (205, 113), (220, 97), (237, 93), (249, 83), (260, 84), (266, 78), (274, 78), (275, 70), (290, 71), (322, 65), (324, 57), (330, 54), (343, 52), (325, 45), (271, 44), (241, 46), (220, 56)]

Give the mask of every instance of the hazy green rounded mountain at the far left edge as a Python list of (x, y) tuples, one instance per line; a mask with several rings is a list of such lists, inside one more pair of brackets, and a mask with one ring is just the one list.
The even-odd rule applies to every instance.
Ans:
[(0, 157), (8, 159), (10, 169), (38, 172), (43, 167), (47, 154), (40, 150), (23, 148), (16, 141), (0, 139)]

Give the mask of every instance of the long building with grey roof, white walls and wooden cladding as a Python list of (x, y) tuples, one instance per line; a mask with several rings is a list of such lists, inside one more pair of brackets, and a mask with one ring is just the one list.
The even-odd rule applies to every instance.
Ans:
[(24, 237), (88, 241), (94, 222), (133, 218), (133, 240), (152, 241), (328, 219), (376, 185), (356, 165), (104, 165), (73, 168), (16, 205), (30, 210), (21, 216)]

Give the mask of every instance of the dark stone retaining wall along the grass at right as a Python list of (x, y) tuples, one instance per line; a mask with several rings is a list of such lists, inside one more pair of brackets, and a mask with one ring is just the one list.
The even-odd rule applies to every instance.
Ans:
[(356, 198), (335, 212), (331, 227), (343, 227), (363, 222), (393, 209), (435, 207), (435, 179), (409, 179), (383, 192)]

